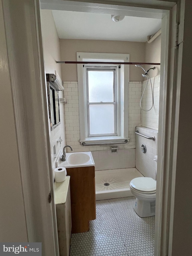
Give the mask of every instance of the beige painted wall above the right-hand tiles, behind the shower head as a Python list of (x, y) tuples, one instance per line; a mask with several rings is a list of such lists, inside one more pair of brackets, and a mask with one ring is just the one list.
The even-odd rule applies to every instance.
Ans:
[[(159, 35), (152, 43), (145, 43), (145, 62), (160, 63), (161, 62), (161, 35)], [(148, 70), (153, 68), (154, 65), (144, 65)], [(160, 65), (155, 65), (155, 70), (149, 71), (150, 77), (155, 77), (160, 74)], [(144, 78), (145, 80), (145, 78)]]

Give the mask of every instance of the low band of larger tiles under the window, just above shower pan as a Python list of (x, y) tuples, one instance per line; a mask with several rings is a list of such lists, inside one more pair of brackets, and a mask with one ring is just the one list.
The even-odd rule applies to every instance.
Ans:
[(91, 152), (95, 162), (95, 170), (112, 170), (135, 167), (135, 149), (118, 149)]

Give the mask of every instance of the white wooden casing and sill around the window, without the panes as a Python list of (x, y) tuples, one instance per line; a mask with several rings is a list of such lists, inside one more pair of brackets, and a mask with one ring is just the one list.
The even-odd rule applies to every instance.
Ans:
[[(87, 111), (87, 89), (86, 89), (86, 69), (92, 64), (77, 64), (78, 76), (78, 94), (79, 94), (79, 123), (80, 123), (80, 143), (102, 143), (118, 142), (128, 138), (128, 84), (129, 84), (129, 65), (123, 65), (123, 62), (129, 62), (129, 54), (119, 53), (81, 53), (77, 52), (77, 61), (99, 61), (99, 62), (122, 62), (119, 65), (113, 65), (117, 69), (117, 134), (107, 136), (88, 136), (88, 111)], [(96, 65), (94, 65), (96, 66)], [(102, 66), (112, 66), (104, 64)], [(101, 67), (101, 64), (98, 64)], [(120, 125), (121, 124), (121, 125)], [(117, 125), (118, 126), (118, 125)]]

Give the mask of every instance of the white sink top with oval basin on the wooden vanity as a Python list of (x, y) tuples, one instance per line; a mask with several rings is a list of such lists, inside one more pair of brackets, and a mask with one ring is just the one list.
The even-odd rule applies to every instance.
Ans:
[(66, 153), (66, 161), (61, 161), (62, 150), (56, 161), (56, 167), (85, 167), (95, 166), (91, 152), (74, 152)]

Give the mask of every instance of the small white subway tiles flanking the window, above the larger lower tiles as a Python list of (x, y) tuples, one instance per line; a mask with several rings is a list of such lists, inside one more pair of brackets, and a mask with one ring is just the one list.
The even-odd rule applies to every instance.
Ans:
[[(107, 146), (107, 145), (81, 146), (81, 144), (79, 143), (80, 128), (79, 128), (78, 83), (77, 81), (64, 81), (63, 87), (64, 87), (64, 98), (68, 101), (68, 103), (64, 105), (66, 143), (73, 147), (74, 152), (110, 150), (110, 146)], [(128, 137), (130, 138), (130, 140), (128, 144), (118, 144), (119, 149), (135, 148), (135, 126), (141, 125), (141, 110), (139, 106), (141, 89), (142, 89), (142, 82), (129, 82)]]

